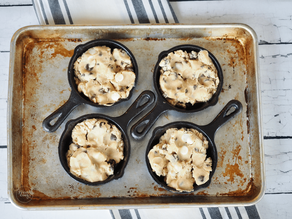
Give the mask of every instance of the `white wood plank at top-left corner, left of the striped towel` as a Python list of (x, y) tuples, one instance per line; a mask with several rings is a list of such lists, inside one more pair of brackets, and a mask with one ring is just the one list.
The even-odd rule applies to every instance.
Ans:
[(13, 34), (21, 27), (39, 25), (33, 6), (0, 7), (0, 51), (10, 51)]

